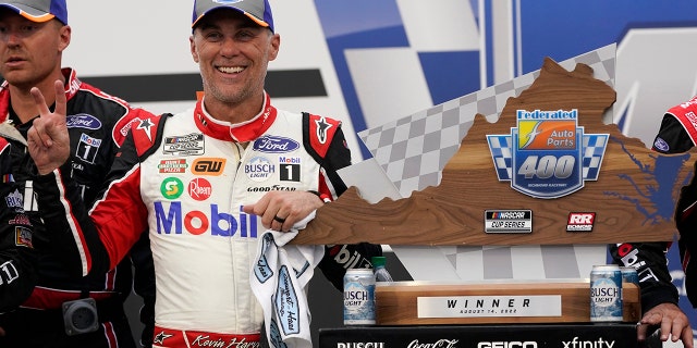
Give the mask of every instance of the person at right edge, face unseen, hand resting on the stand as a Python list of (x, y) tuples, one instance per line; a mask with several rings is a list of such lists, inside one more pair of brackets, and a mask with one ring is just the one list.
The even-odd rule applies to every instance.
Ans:
[[(697, 98), (697, 97), (696, 97)], [(690, 120), (695, 120), (697, 111), (697, 99), (675, 105), (669, 109), (663, 115), (661, 127), (655, 138), (651, 149), (661, 153), (680, 153), (689, 150), (694, 146), (697, 136), (697, 128)], [(677, 221), (677, 220), (676, 220)], [(689, 281), (697, 279), (689, 276), (694, 273), (688, 266), (689, 253), (685, 252), (686, 238), (681, 237), (678, 247), (683, 258), (687, 285), (687, 295), (693, 303), (696, 295), (690, 296)], [(677, 307), (677, 289), (671, 283), (672, 278), (668, 270), (665, 253), (671, 247), (671, 243), (624, 243), (611, 245), (610, 252), (614, 261), (621, 265), (633, 266), (639, 274), (639, 287), (641, 289), (641, 310), (644, 316), (643, 324), (660, 325), (660, 338), (668, 340), (669, 334), (672, 340), (682, 339), (685, 347), (693, 347), (693, 334), (689, 321), (685, 313)], [(694, 286), (697, 288), (697, 286)], [(647, 325), (639, 326), (639, 339), (644, 339), (647, 333)]]

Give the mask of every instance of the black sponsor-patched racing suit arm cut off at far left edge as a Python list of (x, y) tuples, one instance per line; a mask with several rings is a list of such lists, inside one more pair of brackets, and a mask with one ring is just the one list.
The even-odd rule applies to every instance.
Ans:
[(36, 284), (34, 229), (24, 214), (10, 160), (10, 144), (0, 137), (0, 312), (20, 306)]

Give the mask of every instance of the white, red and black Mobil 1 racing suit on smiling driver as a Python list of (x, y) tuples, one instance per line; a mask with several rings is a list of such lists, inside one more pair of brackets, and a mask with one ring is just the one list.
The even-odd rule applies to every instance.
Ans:
[[(242, 207), (270, 190), (334, 199), (346, 189), (337, 171), (350, 164), (340, 122), (278, 110), (265, 94), (262, 110), (241, 124), (212, 119), (198, 101), (134, 125), (89, 212), (64, 177), (65, 165), (37, 178), (35, 188), (47, 204), (44, 219), (72, 232), (58, 238), (65, 248), (74, 248), (73, 236), (84, 241), (64, 253), (72, 269), (108, 270), (149, 231), (155, 340), (168, 346), (183, 332), (258, 336), (264, 315), (249, 273), (266, 229)], [(369, 266), (381, 251), (379, 245), (328, 246), (319, 268), (342, 288), (346, 268)]]

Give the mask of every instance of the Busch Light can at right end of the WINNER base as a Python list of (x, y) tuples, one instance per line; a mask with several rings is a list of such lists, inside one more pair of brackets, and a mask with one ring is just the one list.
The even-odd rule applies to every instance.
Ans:
[(594, 265), (590, 271), (590, 321), (621, 322), (623, 318), (620, 266)]

